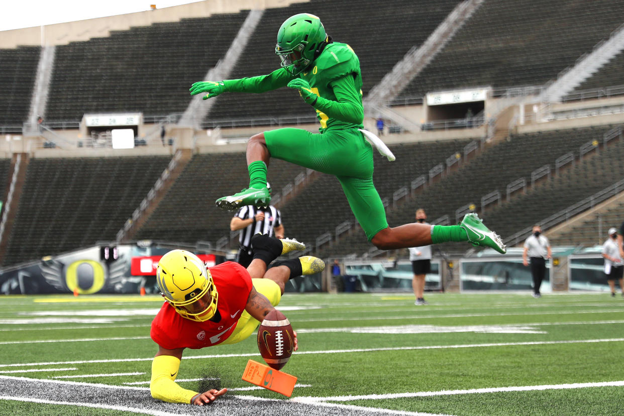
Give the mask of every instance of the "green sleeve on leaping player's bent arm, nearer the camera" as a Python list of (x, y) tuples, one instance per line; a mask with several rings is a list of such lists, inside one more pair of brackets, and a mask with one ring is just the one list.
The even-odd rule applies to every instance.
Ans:
[(329, 84), (334, 90), (337, 101), (318, 97), (312, 106), (332, 119), (361, 124), (364, 120), (364, 107), (359, 91), (355, 88), (352, 75), (344, 75)]

